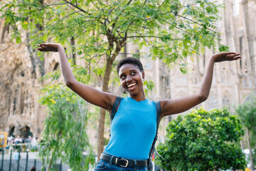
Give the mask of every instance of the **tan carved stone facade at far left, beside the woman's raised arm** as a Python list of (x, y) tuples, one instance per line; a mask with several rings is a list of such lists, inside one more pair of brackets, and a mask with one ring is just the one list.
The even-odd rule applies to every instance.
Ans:
[(46, 118), (44, 106), (38, 103), (43, 82), (39, 79), (58, 66), (58, 56), (41, 61), (27, 44), (11, 41), (4, 19), (0, 22), (0, 132), (33, 135), (39, 138)]

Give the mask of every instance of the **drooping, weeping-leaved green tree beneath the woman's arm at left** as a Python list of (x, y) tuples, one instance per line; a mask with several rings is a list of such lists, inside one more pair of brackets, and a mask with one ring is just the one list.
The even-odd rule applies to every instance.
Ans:
[[(92, 155), (86, 132), (87, 104), (63, 84), (46, 86), (42, 90), (47, 91), (41, 103), (47, 105), (48, 115), (39, 155), (43, 160), (47, 156), (48, 170), (54, 170), (52, 166), (58, 158), (68, 162), (73, 170), (89, 170), (95, 155)], [(87, 152), (86, 157), (83, 152)]]

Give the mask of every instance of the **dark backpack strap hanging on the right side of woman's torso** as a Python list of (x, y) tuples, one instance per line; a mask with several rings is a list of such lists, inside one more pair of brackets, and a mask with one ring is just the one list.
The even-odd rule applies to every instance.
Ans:
[[(159, 153), (156, 151), (155, 145), (156, 145), (156, 140), (158, 138), (158, 129), (159, 129), (159, 123), (160, 123), (160, 116), (161, 116), (161, 105), (159, 100), (154, 101), (155, 105), (156, 105), (156, 136), (153, 140), (153, 143), (151, 145), (151, 148), (149, 150), (149, 158), (153, 155), (153, 152), (156, 152), (157, 155), (159, 155)], [(159, 155), (159, 157), (161, 157), (161, 155)], [(164, 160), (164, 157), (161, 157)]]

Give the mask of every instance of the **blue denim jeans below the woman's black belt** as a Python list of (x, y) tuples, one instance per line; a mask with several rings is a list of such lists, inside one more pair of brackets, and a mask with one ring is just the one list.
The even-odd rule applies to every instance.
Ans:
[[(105, 155), (108, 155), (105, 153)], [(147, 167), (122, 167), (119, 165), (115, 165), (114, 163), (110, 164), (110, 162), (107, 162), (105, 160), (100, 160), (97, 162), (97, 165), (95, 166), (95, 171), (147, 171)]]

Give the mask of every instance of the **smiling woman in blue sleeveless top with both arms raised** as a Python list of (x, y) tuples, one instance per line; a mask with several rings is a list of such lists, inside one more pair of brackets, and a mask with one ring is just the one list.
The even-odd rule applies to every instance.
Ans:
[[(38, 51), (55, 51), (60, 56), (60, 66), (66, 85), (87, 102), (105, 108), (111, 113), (117, 95), (102, 92), (76, 81), (63, 46), (56, 43), (42, 43)], [(233, 61), (241, 58), (240, 53), (223, 52), (210, 57), (203, 83), (198, 93), (177, 99), (159, 100), (161, 118), (166, 115), (182, 113), (202, 103), (208, 98), (213, 79), (213, 66), (216, 62)], [(123, 98), (111, 125), (111, 138), (95, 170), (147, 170), (146, 160), (156, 135), (156, 107), (146, 99), (142, 63), (136, 58), (119, 61), (117, 74), (122, 87), (129, 97)]]

